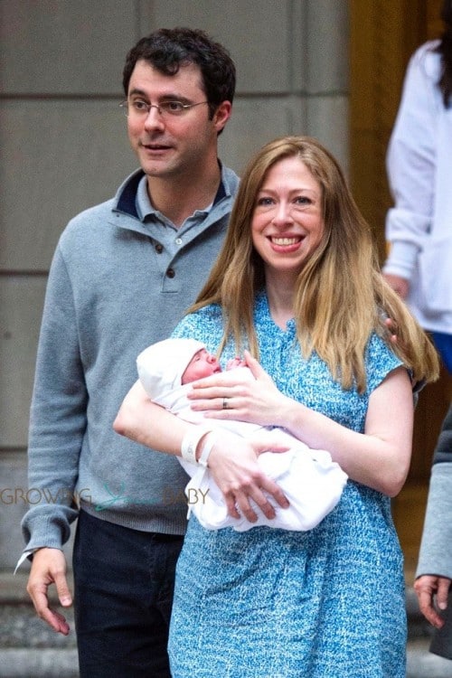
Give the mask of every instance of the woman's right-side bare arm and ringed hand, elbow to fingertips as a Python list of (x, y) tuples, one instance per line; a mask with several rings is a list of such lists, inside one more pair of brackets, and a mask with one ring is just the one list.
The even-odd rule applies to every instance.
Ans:
[[(287, 428), (309, 447), (327, 449), (353, 480), (395, 496), (410, 468), (413, 398), (407, 371), (392, 371), (372, 392), (364, 433), (357, 433), (278, 391), (247, 355), (255, 381), (216, 386), (215, 377), (193, 385), (193, 409), (206, 419), (241, 419)], [(222, 403), (226, 399), (227, 409)], [(209, 410), (208, 410), (209, 408)]]

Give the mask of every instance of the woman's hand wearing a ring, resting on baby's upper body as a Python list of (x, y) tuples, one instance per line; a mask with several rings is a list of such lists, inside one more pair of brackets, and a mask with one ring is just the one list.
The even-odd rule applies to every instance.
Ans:
[(239, 419), (260, 426), (284, 426), (284, 410), (290, 399), (278, 391), (268, 373), (248, 351), (245, 360), (254, 379), (238, 375), (234, 383), (224, 383), (221, 373), (193, 381), (188, 398), (192, 409), (206, 419)]

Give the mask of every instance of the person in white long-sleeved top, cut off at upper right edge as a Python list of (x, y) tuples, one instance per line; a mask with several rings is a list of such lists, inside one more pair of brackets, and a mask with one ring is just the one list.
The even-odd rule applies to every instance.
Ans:
[[(391, 134), (387, 170), (394, 206), (383, 274), (433, 334), (452, 372), (452, 3), (442, 40), (412, 55)], [(448, 22), (448, 23), (447, 23)]]

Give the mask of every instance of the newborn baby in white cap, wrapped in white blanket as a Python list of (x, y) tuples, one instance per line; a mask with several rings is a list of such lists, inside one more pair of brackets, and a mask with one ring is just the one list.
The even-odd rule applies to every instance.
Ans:
[[(231, 372), (228, 372), (231, 370), (241, 370), (243, 376), (254, 379), (246, 362), (240, 358), (229, 361), (226, 372), (222, 372), (215, 356), (207, 353), (205, 345), (194, 339), (166, 339), (148, 346), (137, 357), (138, 376), (151, 400), (182, 419), (199, 424), (201, 428), (196, 434), (196, 442), (203, 434), (210, 433), (211, 445), (207, 439), (200, 463), (190, 456), (190, 449), (186, 447), (182, 449), (183, 457), (178, 457), (191, 477), (185, 488), (189, 513), (193, 511), (208, 530), (233, 527), (244, 532), (257, 525), (294, 531), (312, 530), (339, 502), (348, 476), (332, 461), (329, 452), (310, 449), (282, 428), (266, 428), (231, 419), (206, 419), (202, 412), (192, 410), (188, 394), (193, 381), (222, 372), (224, 382), (231, 383)], [(237, 380), (237, 373), (232, 380)], [(223, 408), (227, 406), (227, 399), (224, 399)], [(259, 431), (270, 433), (276, 451), (264, 452), (258, 463), (272, 480), (278, 482), (290, 502), (288, 508), (273, 503), (274, 519), (267, 518), (257, 506), (256, 523), (250, 523), (244, 516), (237, 519), (228, 514), (224, 497), (207, 468), (206, 458), (206, 450), (212, 448), (218, 435), (214, 431), (221, 428), (227, 428), (240, 437), (259, 435)], [(271, 501), (271, 497), (268, 499)]]

